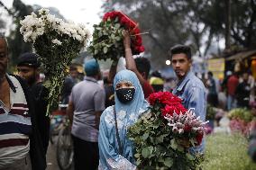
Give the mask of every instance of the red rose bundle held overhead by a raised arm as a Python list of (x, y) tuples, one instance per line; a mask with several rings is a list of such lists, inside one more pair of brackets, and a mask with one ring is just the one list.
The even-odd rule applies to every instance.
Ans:
[(123, 31), (131, 35), (131, 49), (133, 55), (140, 54), (145, 49), (142, 46), (141, 31), (138, 23), (133, 22), (121, 12), (105, 13), (103, 21), (94, 25), (93, 40), (88, 48), (96, 59), (118, 60), (124, 56)]

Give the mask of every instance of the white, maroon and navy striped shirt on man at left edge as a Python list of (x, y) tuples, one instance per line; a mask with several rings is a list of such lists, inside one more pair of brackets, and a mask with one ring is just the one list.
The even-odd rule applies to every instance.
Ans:
[(0, 169), (26, 157), (30, 150), (31, 117), (23, 88), (14, 76), (8, 76), (15, 87), (10, 88), (11, 109), (0, 100)]

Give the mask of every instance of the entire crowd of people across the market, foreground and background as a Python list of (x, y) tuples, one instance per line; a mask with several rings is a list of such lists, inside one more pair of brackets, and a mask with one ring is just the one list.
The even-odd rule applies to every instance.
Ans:
[[(193, 108), (202, 121), (206, 120), (206, 103), (221, 103), (219, 89), (227, 94), (226, 109), (249, 107), (254, 81), (248, 73), (239, 80), (236, 73), (228, 72), (222, 85), (217, 85), (211, 72), (207, 79), (200, 79), (191, 70), (191, 49), (177, 45), (169, 56), (177, 84), (169, 85), (157, 71), (148, 81), (151, 63), (148, 58), (133, 58), (128, 32), (123, 35), (123, 47), (126, 68), (117, 72), (113, 61), (104, 86), (98, 84), (103, 77), (96, 59), (86, 60), (83, 79), (78, 79), (77, 67), (69, 67), (59, 102), (69, 104), (76, 170), (137, 169), (127, 128), (149, 110), (147, 99), (153, 92), (178, 95), (184, 107)], [(7, 73), (8, 61), (8, 44), (0, 37), (0, 169), (46, 169), (50, 119), (45, 115), (48, 91), (40, 81), (40, 61), (34, 53), (22, 54), (18, 76)], [(203, 154), (205, 146), (203, 139), (189, 151)]]

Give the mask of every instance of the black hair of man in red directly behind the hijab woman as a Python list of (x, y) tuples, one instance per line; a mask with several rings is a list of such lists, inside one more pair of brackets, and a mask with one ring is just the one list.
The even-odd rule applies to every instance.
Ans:
[(135, 64), (138, 69), (138, 71), (142, 74), (145, 72), (146, 78), (148, 78), (151, 70), (151, 62), (148, 58), (135, 58)]

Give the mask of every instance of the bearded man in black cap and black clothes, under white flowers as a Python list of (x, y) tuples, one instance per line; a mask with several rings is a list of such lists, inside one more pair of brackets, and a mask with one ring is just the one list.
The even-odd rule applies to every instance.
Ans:
[(38, 115), (39, 132), (46, 154), (50, 139), (50, 118), (46, 116), (47, 111), (47, 89), (40, 82), (40, 63), (38, 56), (34, 53), (23, 53), (18, 60), (17, 70), (19, 76), (26, 80), (35, 100), (35, 111)]

